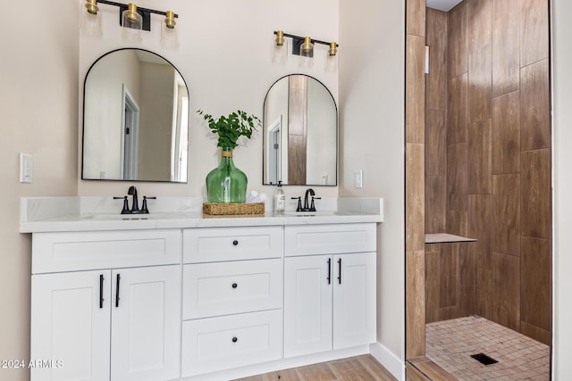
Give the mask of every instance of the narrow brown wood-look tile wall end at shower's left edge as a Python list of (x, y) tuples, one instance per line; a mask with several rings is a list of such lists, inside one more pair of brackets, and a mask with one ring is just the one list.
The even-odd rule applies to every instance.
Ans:
[(425, 355), (425, 0), (407, 0), (406, 7), (406, 356), (410, 358)]

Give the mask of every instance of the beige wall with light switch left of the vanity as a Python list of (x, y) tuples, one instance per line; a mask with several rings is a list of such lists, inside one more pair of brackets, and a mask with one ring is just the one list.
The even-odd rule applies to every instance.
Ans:
[[(30, 239), (19, 231), (20, 197), (75, 195), (79, 5), (2, 2), (0, 23), (0, 360), (29, 359)], [(19, 154), (33, 155), (20, 184)], [(1, 380), (29, 379), (0, 369)]]

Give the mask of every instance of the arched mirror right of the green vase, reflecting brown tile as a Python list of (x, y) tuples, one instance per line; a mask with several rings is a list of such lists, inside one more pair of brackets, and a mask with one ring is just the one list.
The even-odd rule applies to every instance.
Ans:
[(336, 186), (338, 111), (322, 82), (293, 74), (265, 98), (263, 183)]

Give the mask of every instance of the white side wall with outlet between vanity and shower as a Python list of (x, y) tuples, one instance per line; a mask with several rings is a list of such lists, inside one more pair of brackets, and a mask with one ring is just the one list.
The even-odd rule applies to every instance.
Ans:
[[(340, 195), (383, 197), (377, 339), (402, 362), (405, 1), (341, 0), (340, 46)], [(354, 170), (363, 170), (361, 189), (353, 187)]]

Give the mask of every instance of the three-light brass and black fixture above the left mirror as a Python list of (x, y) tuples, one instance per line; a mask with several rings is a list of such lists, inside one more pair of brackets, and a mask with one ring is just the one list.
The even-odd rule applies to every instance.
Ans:
[[(154, 9), (140, 8), (136, 4), (122, 4), (107, 0), (86, 0), (87, 12), (83, 13), (82, 29), (90, 36), (99, 36), (101, 30), (101, 15), (97, 4), (113, 5), (119, 8), (119, 25), (123, 27), (123, 37), (131, 41), (140, 41), (141, 30), (151, 30), (151, 13), (165, 16), (164, 26), (174, 29), (175, 19), (179, 17), (172, 11), (162, 12)], [(174, 33), (172, 33), (174, 34)], [(162, 35), (163, 39), (163, 35)]]

